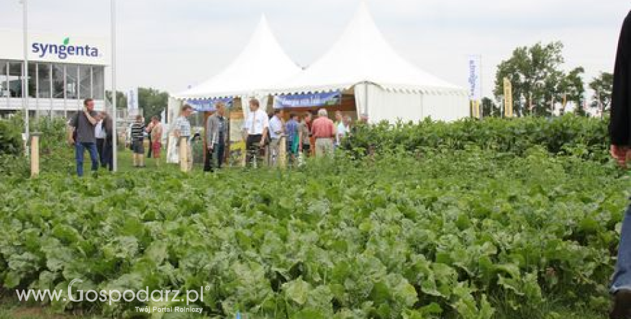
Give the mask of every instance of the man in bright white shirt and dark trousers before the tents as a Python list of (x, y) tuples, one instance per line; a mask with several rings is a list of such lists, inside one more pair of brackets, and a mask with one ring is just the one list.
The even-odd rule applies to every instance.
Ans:
[(265, 137), (270, 128), (270, 119), (261, 110), (259, 100), (250, 100), (250, 112), (243, 122), (243, 135), (246, 140), (246, 166), (257, 158), (259, 150), (265, 146)]

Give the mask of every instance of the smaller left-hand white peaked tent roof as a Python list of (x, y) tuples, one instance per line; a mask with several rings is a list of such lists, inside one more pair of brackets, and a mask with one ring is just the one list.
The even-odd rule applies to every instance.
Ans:
[(207, 99), (252, 95), (299, 71), (298, 64), (278, 44), (263, 15), (250, 42), (232, 64), (206, 82), (174, 96), (178, 99)]

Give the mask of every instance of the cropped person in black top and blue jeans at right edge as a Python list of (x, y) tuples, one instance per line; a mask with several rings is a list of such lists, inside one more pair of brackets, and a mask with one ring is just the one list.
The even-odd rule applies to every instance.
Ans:
[[(631, 159), (631, 12), (620, 33), (613, 75), (609, 124), (611, 155), (621, 167)], [(616, 270), (610, 293), (613, 304), (609, 318), (631, 318), (631, 206), (622, 222)]]

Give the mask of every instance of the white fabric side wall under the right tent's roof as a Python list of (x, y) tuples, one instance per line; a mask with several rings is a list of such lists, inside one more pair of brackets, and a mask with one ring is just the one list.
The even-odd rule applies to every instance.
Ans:
[[(368, 104), (366, 104), (368, 99)], [(469, 116), (466, 95), (388, 91), (374, 84), (355, 86), (357, 113), (368, 114), (370, 122), (455, 121)]]

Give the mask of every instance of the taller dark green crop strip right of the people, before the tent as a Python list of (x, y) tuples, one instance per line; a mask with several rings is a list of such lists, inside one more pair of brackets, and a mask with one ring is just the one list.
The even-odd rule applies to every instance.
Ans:
[(552, 154), (574, 152), (578, 147), (584, 150), (584, 158), (606, 161), (608, 141), (608, 119), (567, 114), (550, 118), (466, 119), (453, 123), (430, 119), (418, 123), (382, 122), (375, 126), (358, 126), (346, 148), (417, 152), (423, 147), (463, 150), (468, 145), (476, 145), (483, 150), (521, 156), (530, 147), (540, 145)]

